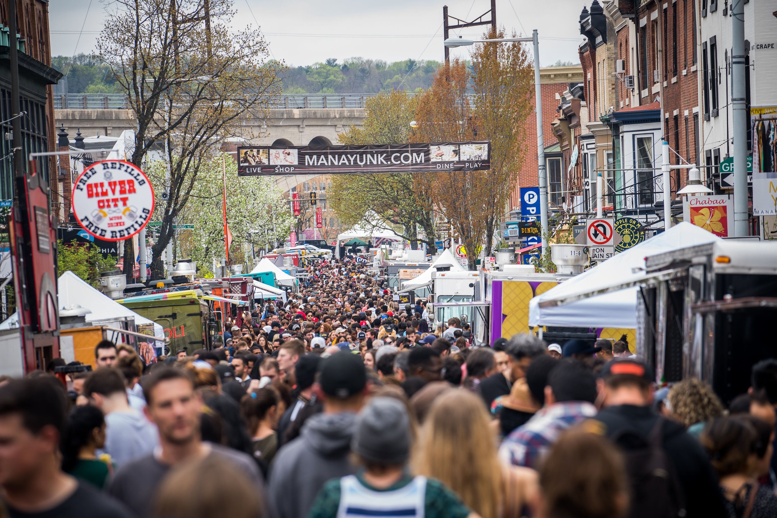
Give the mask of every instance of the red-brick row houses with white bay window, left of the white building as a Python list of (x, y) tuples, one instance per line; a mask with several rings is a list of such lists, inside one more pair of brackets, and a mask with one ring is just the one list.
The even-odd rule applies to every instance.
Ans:
[[(698, 1), (593, 0), (580, 12), (583, 80), (563, 93), (552, 123), (569, 157), (567, 213), (596, 209), (601, 173), (605, 215), (663, 228), (661, 141), (672, 164), (699, 162)], [(672, 173), (675, 216), (686, 182), (685, 171)]]

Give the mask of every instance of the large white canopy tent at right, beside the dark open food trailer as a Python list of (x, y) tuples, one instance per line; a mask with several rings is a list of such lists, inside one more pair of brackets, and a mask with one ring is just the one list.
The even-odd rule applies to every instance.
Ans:
[[(636, 329), (636, 284), (645, 278), (645, 258), (718, 240), (680, 223), (529, 301), (529, 325)], [(621, 290), (611, 288), (630, 285)]]

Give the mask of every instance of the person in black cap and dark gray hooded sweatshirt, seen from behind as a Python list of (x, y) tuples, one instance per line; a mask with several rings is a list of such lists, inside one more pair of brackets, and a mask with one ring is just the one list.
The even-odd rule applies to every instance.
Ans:
[(310, 417), (275, 457), (268, 491), (274, 516), (307, 516), (326, 481), (356, 473), (350, 443), (367, 388), (361, 356), (341, 351), (321, 362), (315, 391), (323, 412)]

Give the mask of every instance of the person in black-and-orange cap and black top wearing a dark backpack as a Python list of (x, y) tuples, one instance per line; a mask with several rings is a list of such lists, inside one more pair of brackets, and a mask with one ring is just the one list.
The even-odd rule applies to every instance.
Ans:
[(621, 448), (632, 487), (629, 518), (725, 518), (718, 479), (684, 427), (653, 412), (653, 374), (641, 360), (616, 358), (601, 371), (599, 432)]

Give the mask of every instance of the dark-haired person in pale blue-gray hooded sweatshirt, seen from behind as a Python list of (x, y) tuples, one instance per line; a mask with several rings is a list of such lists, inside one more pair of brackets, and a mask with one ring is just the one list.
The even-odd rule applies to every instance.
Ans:
[(100, 367), (89, 374), (83, 395), (105, 415), (104, 451), (117, 467), (150, 454), (159, 444), (156, 426), (127, 402), (119, 370)]

